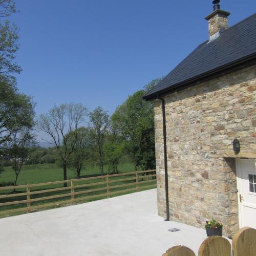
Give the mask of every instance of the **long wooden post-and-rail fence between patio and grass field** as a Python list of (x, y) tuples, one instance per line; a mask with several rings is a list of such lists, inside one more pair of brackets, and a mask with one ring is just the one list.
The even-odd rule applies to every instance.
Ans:
[[(125, 176), (125, 178), (122, 178), (122, 176)], [(67, 184), (67, 186), (62, 186), (62, 184)], [(52, 188), (53, 186), (59, 185), (61, 186)], [(61, 204), (70, 205), (75, 204), (78, 201), (86, 202), (96, 198), (110, 198), (116, 194), (125, 194), (131, 191), (139, 191), (154, 187), (156, 187), (156, 170), (143, 170), (124, 174), (61, 180), (30, 185), (5, 186), (0, 187), (0, 215), (8, 215), (14, 212), (29, 213), (35, 209), (49, 208)], [(17, 189), (19, 189), (19, 191), (17, 191)], [(4, 190), (7, 191), (3, 194), (2, 191)], [(55, 193), (58, 194), (52, 195)], [(41, 196), (42, 194), (43, 196)], [(15, 200), (13, 198), (15, 198)], [(59, 198), (62, 198), (62, 200), (58, 201)], [(63, 198), (65, 198), (65, 200), (63, 200)], [(52, 202), (49, 203), (49, 200)], [(20, 205), (23, 206), (20, 207)], [(7, 206), (15, 208), (2, 210), (3, 207), (6, 208)]]

